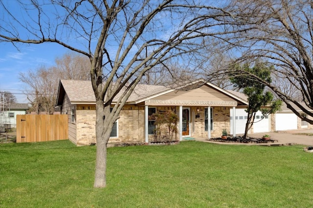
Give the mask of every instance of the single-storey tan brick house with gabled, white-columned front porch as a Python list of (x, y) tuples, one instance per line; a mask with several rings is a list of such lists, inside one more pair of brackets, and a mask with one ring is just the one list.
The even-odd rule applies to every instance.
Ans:
[[(230, 109), (235, 112), (237, 106), (247, 105), (246, 100), (202, 79), (175, 89), (138, 84), (115, 122), (109, 143), (153, 141), (155, 126), (150, 115), (167, 110), (179, 117), (179, 140), (220, 137), (223, 129), (230, 132)], [(60, 80), (57, 107), (68, 115), (69, 140), (77, 146), (96, 142), (95, 96), (90, 81)], [(232, 127), (236, 135), (236, 124)]]

